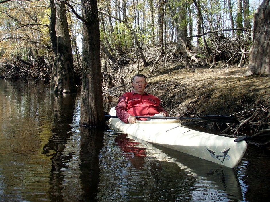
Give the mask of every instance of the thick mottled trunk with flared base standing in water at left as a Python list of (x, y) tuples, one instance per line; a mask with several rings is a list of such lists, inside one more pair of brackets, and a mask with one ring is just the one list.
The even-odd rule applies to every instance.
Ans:
[[(55, 32), (51, 32), (52, 51), (54, 63), (52, 67), (52, 75), (50, 81), (50, 89), (54, 93), (75, 92), (74, 67), (71, 41), (69, 36), (69, 27), (66, 18), (66, 6), (63, 1), (50, 1), (55, 4), (51, 12), (55, 12), (51, 17), (51, 23), (55, 27)], [(51, 8), (52, 8), (51, 5)], [(54, 17), (55, 16), (55, 17)]]

